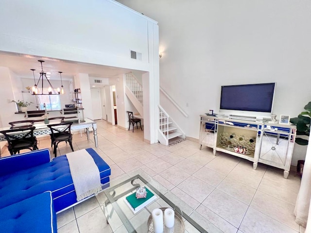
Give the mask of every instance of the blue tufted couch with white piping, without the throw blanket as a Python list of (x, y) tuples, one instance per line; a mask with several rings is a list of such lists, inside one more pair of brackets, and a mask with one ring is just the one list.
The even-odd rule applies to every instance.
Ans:
[[(95, 150), (89, 148), (86, 151), (92, 156), (100, 171), (101, 183), (103, 189), (109, 186), (109, 176), (111, 174), (110, 167), (96, 153)], [(49, 195), (45, 192), (50, 192)], [(52, 227), (52, 231), (36, 231), (35, 228), (29, 232), (56, 232), (56, 219), (53, 219), (55, 213), (61, 212), (77, 203), (74, 185), (70, 175), (70, 169), (67, 157), (59, 156), (51, 160), (50, 150), (35, 150), (23, 154), (17, 154), (0, 159), (0, 214), (3, 211), (20, 210), (23, 206), (25, 213), (18, 211), (12, 219), (0, 218), (0, 227), (3, 221), (13, 221), (15, 223), (23, 216), (41, 217), (44, 211), (33, 211), (36, 204), (42, 205), (49, 203), (51, 210), (46, 207), (46, 214), (50, 214), (51, 222), (47, 221), (47, 227)], [(25, 206), (29, 206), (29, 209)], [(32, 210), (32, 211), (30, 211)], [(14, 211), (13, 211), (14, 212)], [(35, 216), (36, 213), (38, 216)], [(4, 213), (5, 214), (5, 213)], [(27, 219), (27, 218), (26, 218)], [(31, 218), (30, 218), (31, 219)], [(32, 221), (35, 223), (35, 221)], [(14, 221), (12, 222), (13, 225)], [(29, 224), (29, 222), (25, 222)], [(18, 223), (21, 227), (22, 224)], [(36, 225), (36, 223), (34, 224)], [(10, 231), (8, 231), (10, 232)], [(19, 232), (19, 231), (12, 231)], [(24, 231), (22, 231), (24, 232)]]

